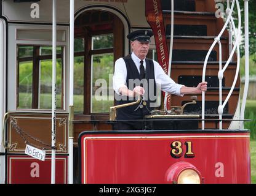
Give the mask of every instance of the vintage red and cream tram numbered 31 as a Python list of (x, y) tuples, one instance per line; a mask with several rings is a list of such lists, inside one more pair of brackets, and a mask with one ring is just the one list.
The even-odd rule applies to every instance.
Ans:
[[(1, 0), (0, 183), (250, 183), (248, 0), (245, 32), (242, 13), (238, 0)], [(138, 29), (154, 33), (148, 58), (207, 91), (159, 92), (150, 129), (113, 130), (129, 107), (116, 105), (114, 62)]]

